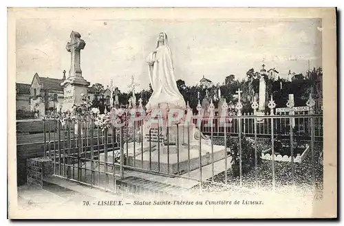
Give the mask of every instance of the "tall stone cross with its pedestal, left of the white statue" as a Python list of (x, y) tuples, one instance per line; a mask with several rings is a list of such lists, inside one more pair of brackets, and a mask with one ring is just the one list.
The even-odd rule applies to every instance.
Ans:
[(69, 76), (61, 83), (63, 86), (64, 100), (63, 111), (72, 109), (74, 104), (78, 105), (82, 101), (82, 95), (87, 96), (89, 82), (83, 78), (80, 68), (80, 51), (85, 47), (85, 41), (80, 39), (78, 32), (72, 31), (70, 41), (66, 45), (67, 52), (71, 54)]

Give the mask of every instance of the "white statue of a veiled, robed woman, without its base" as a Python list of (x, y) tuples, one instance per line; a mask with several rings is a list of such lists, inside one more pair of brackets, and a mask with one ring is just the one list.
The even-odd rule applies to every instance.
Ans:
[(146, 105), (147, 109), (164, 108), (164, 104), (169, 104), (169, 108), (185, 109), (185, 100), (175, 81), (172, 54), (166, 33), (159, 34), (156, 49), (147, 56), (147, 63), (153, 89)]

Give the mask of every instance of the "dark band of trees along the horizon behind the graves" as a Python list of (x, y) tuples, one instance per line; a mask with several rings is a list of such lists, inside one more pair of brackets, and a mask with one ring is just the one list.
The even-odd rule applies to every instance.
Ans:
[[(305, 106), (305, 102), (308, 100), (311, 89), (314, 89), (315, 92), (318, 92), (316, 95), (319, 95), (319, 92), (321, 92), (319, 88), (319, 75), (322, 76), (322, 69), (314, 68), (313, 71), (308, 71), (308, 74), (304, 76), (305, 78), (303, 80), (294, 79), (290, 82), (285, 78), (273, 80), (272, 78), (268, 78), (268, 76), (264, 76), (264, 80), (266, 81), (267, 93), (268, 95), (272, 95), (272, 98), (275, 100), (276, 107), (286, 107), (288, 95), (291, 93), (294, 94), (295, 106)], [(218, 93), (218, 89), (221, 91), (222, 98), (225, 98), (227, 103), (233, 102), (233, 104), (236, 104), (237, 102), (237, 99), (234, 98), (234, 95), (237, 94), (236, 91), (238, 89), (244, 91), (244, 93), (241, 93), (241, 102), (243, 104), (242, 112), (250, 113), (252, 112), (250, 104), (252, 103), (253, 95), (255, 93), (259, 93), (259, 79), (261, 74), (259, 71), (255, 71), (255, 69), (251, 68), (246, 71), (245, 79), (240, 80), (239, 78), (235, 77), (236, 76), (234, 74), (230, 74), (229, 76), (226, 76), (222, 84), (213, 84), (213, 86), (209, 87), (208, 89), (204, 89), (199, 85), (189, 86), (184, 80), (181, 79), (177, 80), (176, 83), (180, 93), (184, 97), (184, 100), (189, 102), (189, 106), (191, 109), (193, 109), (193, 113), (197, 113), (196, 107), (198, 104), (198, 92), (200, 93), (200, 102), (202, 103), (202, 100), (206, 97), (206, 91), (208, 91), (209, 98), (214, 98)], [(136, 83), (132, 81), (129, 87), (135, 86)], [(104, 89), (103, 85), (97, 83), (92, 87), (99, 91)], [(135, 93), (136, 100), (142, 98), (142, 104), (145, 106), (152, 93), (153, 89), (151, 84), (149, 84), (147, 89), (142, 89), (141, 91)], [(131, 93), (118, 93), (118, 101), (120, 102), (120, 106), (127, 106), (130, 97)], [(268, 98), (270, 98), (270, 96)], [(219, 99), (213, 99), (215, 107), (218, 107), (218, 102)], [(98, 107), (98, 105), (95, 103), (93, 103), (93, 106)]]

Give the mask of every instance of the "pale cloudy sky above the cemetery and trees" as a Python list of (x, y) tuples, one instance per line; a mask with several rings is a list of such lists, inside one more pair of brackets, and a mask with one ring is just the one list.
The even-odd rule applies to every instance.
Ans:
[[(234, 74), (274, 68), (283, 78), (288, 71), (303, 73), (321, 67), (321, 19), (169, 21), (166, 19), (17, 21), (17, 82), (30, 84), (35, 73), (62, 78), (69, 71), (65, 46), (72, 30), (86, 45), (81, 50), (83, 77), (106, 85), (110, 79), (127, 91), (133, 76), (138, 90), (147, 89), (146, 57), (155, 49), (159, 32), (166, 32), (173, 55), (175, 78), (195, 85), (205, 76), (222, 83)], [(68, 74), (68, 72), (67, 72)], [(67, 76), (66, 74), (66, 76)]]

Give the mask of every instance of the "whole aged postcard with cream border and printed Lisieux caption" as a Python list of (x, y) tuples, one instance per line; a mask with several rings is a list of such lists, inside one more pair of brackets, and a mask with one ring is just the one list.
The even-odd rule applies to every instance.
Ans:
[(335, 8), (8, 8), (8, 217), (336, 218), (336, 73)]

